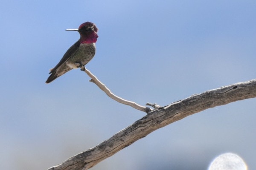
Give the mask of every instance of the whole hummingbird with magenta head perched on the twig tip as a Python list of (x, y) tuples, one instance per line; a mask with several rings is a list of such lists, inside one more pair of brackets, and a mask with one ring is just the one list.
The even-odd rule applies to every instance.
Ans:
[(66, 29), (66, 31), (78, 31), (80, 38), (67, 50), (60, 62), (50, 69), (49, 74), (51, 75), (46, 80), (46, 83), (52, 82), (73, 68), (81, 68), (84, 71), (84, 65), (93, 59), (95, 55), (98, 28), (94, 23), (82, 23), (78, 29)]

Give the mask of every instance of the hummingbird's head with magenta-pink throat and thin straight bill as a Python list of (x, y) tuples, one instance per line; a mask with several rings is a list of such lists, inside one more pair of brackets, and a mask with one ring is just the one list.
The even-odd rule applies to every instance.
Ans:
[(97, 41), (99, 37), (97, 32), (98, 28), (94, 23), (86, 22), (82, 23), (78, 29), (66, 29), (67, 31), (78, 31), (80, 34), (80, 42), (93, 43)]

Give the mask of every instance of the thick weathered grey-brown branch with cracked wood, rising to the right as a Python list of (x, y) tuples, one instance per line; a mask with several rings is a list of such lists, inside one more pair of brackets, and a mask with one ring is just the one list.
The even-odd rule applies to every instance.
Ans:
[(186, 99), (151, 111), (110, 139), (67, 159), (55, 167), (49, 168), (49, 170), (88, 170), (124, 147), (172, 122), (208, 108), (254, 97), (256, 97), (256, 79), (216, 88), (201, 94), (194, 94)]

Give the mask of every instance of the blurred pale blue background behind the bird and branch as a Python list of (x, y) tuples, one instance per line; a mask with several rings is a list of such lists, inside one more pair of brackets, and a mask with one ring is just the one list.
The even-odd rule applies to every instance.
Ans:
[[(3, 0), (0, 16), (0, 169), (46, 170), (145, 116), (79, 69), (45, 84), (79, 39), (64, 30), (86, 21), (99, 28), (87, 69), (140, 105), (256, 78), (255, 0)], [(92, 170), (206, 170), (225, 152), (256, 169), (255, 103), (186, 117)]]

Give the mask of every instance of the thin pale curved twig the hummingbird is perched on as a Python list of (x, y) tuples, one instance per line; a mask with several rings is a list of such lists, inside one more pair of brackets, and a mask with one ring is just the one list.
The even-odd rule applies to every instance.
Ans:
[(116, 100), (116, 102), (119, 102), (119, 103), (122, 103), (124, 105), (129, 105), (139, 111), (143, 111), (143, 112), (146, 112), (146, 113), (149, 113), (151, 110), (151, 108), (148, 108), (148, 107), (145, 107), (145, 106), (141, 106), (141, 105), (138, 105), (137, 103), (135, 102), (131, 102), (129, 100), (125, 100), (125, 99), (122, 99), (121, 97), (119, 96), (116, 96), (115, 94), (113, 94), (102, 82), (100, 82), (97, 77), (95, 77), (89, 70), (87, 70), (86, 68), (84, 68), (84, 72), (86, 74), (88, 74), (88, 76), (91, 78), (90, 82), (93, 82), (95, 83), (100, 89), (102, 89), (102, 91), (104, 91), (109, 97), (111, 97), (111, 99), (114, 99)]

